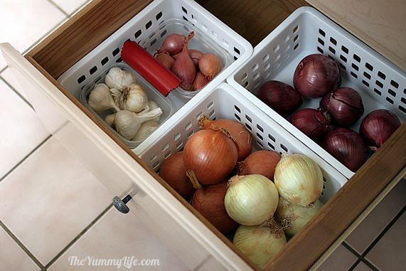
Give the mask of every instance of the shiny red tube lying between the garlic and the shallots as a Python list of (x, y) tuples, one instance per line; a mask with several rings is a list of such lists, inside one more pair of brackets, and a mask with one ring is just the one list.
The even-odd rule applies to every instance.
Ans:
[(164, 97), (181, 84), (181, 80), (135, 41), (124, 42), (122, 60), (153, 85)]

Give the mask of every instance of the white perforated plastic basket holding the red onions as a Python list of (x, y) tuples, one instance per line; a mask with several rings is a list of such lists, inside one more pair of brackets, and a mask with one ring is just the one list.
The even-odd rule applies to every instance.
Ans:
[[(250, 60), (241, 65), (227, 82), (237, 89), (249, 90), (245, 90), (248, 99), (349, 179), (353, 171), (255, 97), (260, 85), (267, 80), (279, 80), (293, 86), (296, 66), (311, 53), (323, 53), (338, 63), (341, 86), (353, 87), (363, 99), (363, 117), (375, 109), (385, 108), (401, 121), (405, 120), (405, 72), (309, 7), (297, 9), (269, 33), (255, 46)], [(319, 100), (304, 100), (299, 109), (318, 108)], [(358, 132), (363, 117), (350, 128)]]

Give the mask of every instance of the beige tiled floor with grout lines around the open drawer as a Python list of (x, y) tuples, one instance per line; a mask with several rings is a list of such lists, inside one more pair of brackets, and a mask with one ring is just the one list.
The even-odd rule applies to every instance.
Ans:
[[(86, 2), (1, 0), (0, 42), (25, 53)], [(186, 270), (137, 216), (112, 209), (113, 195), (48, 134), (1, 56), (0, 107), (0, 270), (105, 270), (70, 263), (132, 255), (159, 258), (150, 270)], [(404, 270), (405, 194), (402, 180), (320, 270)]]

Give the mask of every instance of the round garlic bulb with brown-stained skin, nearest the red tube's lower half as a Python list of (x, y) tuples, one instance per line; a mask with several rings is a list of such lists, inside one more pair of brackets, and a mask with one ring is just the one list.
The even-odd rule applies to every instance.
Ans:
[(119, 97), (119, 107), (131, 112), (141, 112), (148, 105), (148, 96), (138, 84), (131, 84), (122, 91)]

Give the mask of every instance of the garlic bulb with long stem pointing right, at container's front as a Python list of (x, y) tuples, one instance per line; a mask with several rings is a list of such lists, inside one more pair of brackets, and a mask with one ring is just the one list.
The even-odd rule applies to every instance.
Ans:
[(132, 139), (137, 134), (143, 122), (154, 119), (162, 114), (161, 108), (156, 108), (143, 114), (137, 114), (128, 110), (121, 110), (114, 117), (117, 132), (125, 139)]

